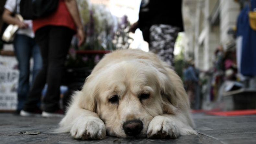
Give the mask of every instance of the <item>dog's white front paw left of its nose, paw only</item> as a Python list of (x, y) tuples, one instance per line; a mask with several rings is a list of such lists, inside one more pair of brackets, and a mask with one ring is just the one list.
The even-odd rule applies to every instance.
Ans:
[(76, 139), (104, 139), (106, 128), (99, 118), (81, 116), (76, 118), (70, 133)]

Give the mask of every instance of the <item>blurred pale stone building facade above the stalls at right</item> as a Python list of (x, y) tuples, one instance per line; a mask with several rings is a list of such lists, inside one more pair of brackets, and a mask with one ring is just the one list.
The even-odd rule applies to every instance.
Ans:
[(195, 66), (209, 70), (218, 45), (227, 49), (233, 38), (228, 34), (236, 26), (240, 12), (235, 0), (184, 0), (183, 17), (185, 58), (193, 57)]

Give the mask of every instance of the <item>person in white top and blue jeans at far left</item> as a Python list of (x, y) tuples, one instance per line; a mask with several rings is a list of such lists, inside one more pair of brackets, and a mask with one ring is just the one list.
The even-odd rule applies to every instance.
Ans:
[(13, 42), (19, 69), (17, 89), (18, 104), (15, 112), (17, 114), (19, 114), (22, 109), (30, 88), (30, 58), (33, 58), (32, 82), (35, 80), (36, 75), (42, 67), (40, 49), (36, 44), (35, 35), (32, 30), (32, 20), (24, 20), (21, 22), (12, 16), (13, 13), (19, 13), (19, 3), (20, 0), (7, 0), (2, 15), (6, 23), (19, 26), (19, 30)]

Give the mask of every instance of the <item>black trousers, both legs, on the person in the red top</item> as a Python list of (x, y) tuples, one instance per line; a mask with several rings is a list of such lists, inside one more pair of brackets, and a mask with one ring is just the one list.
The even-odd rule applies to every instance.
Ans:
[(43, 98), (43, 110), (54, 112), (59, 109), (60, 85), (64, 75), (64, 62), (70, 47), (74, 30), (64, 26), (44, 26), (35, 33), (40, 47), (43, 66), (37, 74), (23, 109), (33, 111), (41, 100), (41, 92), (47, 83), (48, 88)]

